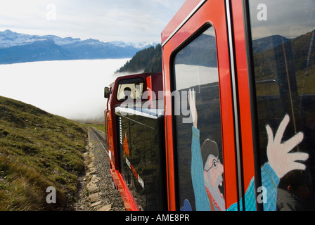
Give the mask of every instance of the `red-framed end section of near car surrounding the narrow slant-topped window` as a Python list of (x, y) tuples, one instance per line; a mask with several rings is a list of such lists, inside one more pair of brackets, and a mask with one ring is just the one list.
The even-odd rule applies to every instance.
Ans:
[(186, 1), (162, 32), (169, 210), (238, 210), (224, 1)]

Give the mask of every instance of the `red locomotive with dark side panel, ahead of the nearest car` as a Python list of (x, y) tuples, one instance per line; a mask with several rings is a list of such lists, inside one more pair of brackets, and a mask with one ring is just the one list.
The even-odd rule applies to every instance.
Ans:
[(104, 92), (113, 186), (127, 210), (165, 210), (162, 73), (118, 77)]

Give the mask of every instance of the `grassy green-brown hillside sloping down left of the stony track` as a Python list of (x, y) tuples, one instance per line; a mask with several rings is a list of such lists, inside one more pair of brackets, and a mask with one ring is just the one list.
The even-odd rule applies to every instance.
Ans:
[[(86, 129), (0, 96), (0, 210), (60, 210), (75, 200)], [(56, 204), (46, 188), (56, 188)]]

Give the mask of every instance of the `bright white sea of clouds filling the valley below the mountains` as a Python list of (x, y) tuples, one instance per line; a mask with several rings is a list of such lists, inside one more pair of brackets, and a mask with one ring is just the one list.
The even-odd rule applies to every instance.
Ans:
[(130, 60), (61, 60), (0, 65), (0, 96), (71, 120), (103, 120), (104, 87)]

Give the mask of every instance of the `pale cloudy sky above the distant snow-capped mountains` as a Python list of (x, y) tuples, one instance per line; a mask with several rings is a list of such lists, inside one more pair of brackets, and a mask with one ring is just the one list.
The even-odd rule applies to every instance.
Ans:
[(157, 42), (185, 0), (10, 0), (0, 1), (0, 31)]

